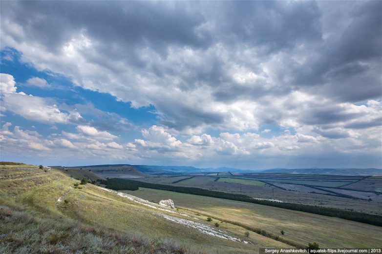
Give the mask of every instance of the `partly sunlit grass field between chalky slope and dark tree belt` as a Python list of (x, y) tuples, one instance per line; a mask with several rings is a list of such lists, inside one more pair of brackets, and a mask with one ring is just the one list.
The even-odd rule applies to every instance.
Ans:
[[(139, 191), (126, 192), (153, 201), (171, 198), (174, 200), (175, 207), (181, 208), (181, 211), (190, 210), (194, 214), (241, 223), (273, 234), (279, 234), (280, 230), (284, 230), (285, 235), (282, 237), (300, 244), (315, 241), (322, 247), (349, 248), (370, 248), (382, 245), (381, 227), (359, 222), (162, 190), (140, 188)], [(229, 227), (232, 224), (225, 225)]]

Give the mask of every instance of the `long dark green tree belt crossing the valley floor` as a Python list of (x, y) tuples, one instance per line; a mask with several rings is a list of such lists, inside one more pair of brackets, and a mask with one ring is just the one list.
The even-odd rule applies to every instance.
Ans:
[(358, 221), (358, 222), (367, 223), (371, 225), (382, 226), (381, 215), (369, 215), (369, 214), (360, 213), (360, 212), (347, 211), (347, 210), (336, 209), (336, 208), (320, 207), (320, 206), (276, 202), (276, 201), (270, 201), (270, 200), (259, 200), (259, 199), (254, 199), (247, 195), (216, 192), (216, 191), (210, 191), (210, 190), (205, 190), (200, 188), (171, 186), (171, 185), (155, 184), (155, 183), (134, 181), (129, 179), (118, 179), (118, 178), (108, 179), (106, 186), (107, 188), (112, 190), (132, 190), (133, 191), (133, 190), (138, 190), (139, 187), (143, 187), (143, 188), (151, 188), (151, 189), (172, 191), (172, 192), (178, 192), (178, 193), (218, 197), (218, 198), (231, 199), (231, 200), (237, 200), (242, 202), (274, 206), (274, 207), (301, 211), (306, 213), (312, 213), (317, 215), (338, 217), (342, 219)]

